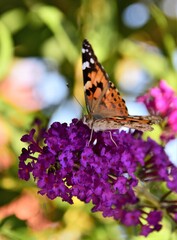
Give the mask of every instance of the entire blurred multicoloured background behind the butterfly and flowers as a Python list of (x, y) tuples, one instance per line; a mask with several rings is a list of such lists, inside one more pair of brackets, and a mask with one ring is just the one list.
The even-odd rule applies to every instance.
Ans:
[[(146, 114), (135, 98), (160, 79), (177, 90), (177, 0), (0, 0), (0, 240), (145, 239), (91, 204), (48, 200), (18, 179), (20, 138), (33, 119), (69, 123), (85, 111), (84, 38), (131, 114)], [(146, 239), (176, 239), (163, 224)]]

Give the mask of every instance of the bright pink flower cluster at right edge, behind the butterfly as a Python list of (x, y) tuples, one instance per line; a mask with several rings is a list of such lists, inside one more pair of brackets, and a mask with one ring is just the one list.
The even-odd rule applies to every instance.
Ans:
[(177, 96), (163, 80), (159, 86), (151, 88), (145, 95), (138, 97), (150, 113), (158, 113), (166, 120), (161, 139), (165, 142), (177, 135)]

